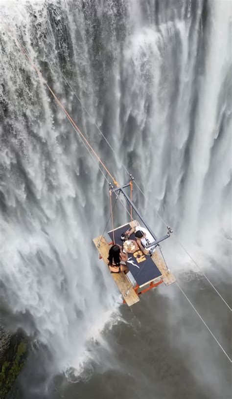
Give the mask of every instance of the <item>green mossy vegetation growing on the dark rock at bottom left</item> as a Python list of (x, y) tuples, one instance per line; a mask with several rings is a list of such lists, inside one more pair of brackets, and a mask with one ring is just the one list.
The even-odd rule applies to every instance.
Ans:
[(17, 352), (12, 362), (5, 361), (0, 373), (0, 398), (3, 399), (11, 389), (14, 381), (23, 369), (24, 358), (27, 347), (24, 341), (21, 341), (17, 347)]

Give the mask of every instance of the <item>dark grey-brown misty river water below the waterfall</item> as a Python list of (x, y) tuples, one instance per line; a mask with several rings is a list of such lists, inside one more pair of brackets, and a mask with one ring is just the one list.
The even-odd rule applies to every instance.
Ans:
[[(219, 272), (217, 279), (230, 304), (230, 282), (220, 282)], [(200, 274), (188, 271), (178, 281), (231, 358), (231, 311)], [(94, 361), (78, 382), (56, 376), (43, 394), (43, 366), (33, 358), (21, 376), (23, 399), (231, 399), (231, 362), (176, 284), (119, 311), (122, 321), (91, 343)]]

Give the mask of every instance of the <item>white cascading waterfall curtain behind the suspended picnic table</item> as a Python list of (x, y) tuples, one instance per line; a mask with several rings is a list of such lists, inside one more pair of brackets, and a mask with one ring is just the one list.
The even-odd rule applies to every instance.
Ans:
[[(0, 6), (1, 302), (49, 349), (53, 372), (78, 375), (94, 357), (86, 342), (119, 317), (120, 297), (91, 244), (109, 216), (109, 186), (17, 40), (116, 179), (128, 180), (123, 164), (134, 175), (146, 194), (135, 188), (135, 201), (154, 229), (166, 233), (153, 206), (198, 257), (224, 260), (226, 280), (232, 5)], [(127, 219), (117, 204), (115, 224)]]

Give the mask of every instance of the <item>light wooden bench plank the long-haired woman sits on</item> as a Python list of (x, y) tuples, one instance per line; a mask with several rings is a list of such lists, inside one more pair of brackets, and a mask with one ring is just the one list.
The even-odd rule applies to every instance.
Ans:
[[(101, 239), (101, 236), (94, 238), (93, 243), (96, 245), (98, 252), (108, 268), (107, 258), (109, 256), (109, 244), (104, 237)], [(128, 306), (132, 306), (139, 302), (138, 294), (135, 292), (130, 280), (128, 280), (124, 273), (111, 273), (111, 275)]]

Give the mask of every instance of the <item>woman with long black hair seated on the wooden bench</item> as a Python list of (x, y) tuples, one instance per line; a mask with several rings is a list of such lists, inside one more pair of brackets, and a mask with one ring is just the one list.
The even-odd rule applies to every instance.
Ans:
[(109, 250), (108, 266), (111, 273), (128, 273), (129, 269), (126, 266), (126, 261), (128, 259), (128, 254), (122, 252), (122, 247), (120, 245), (113, 245)]

